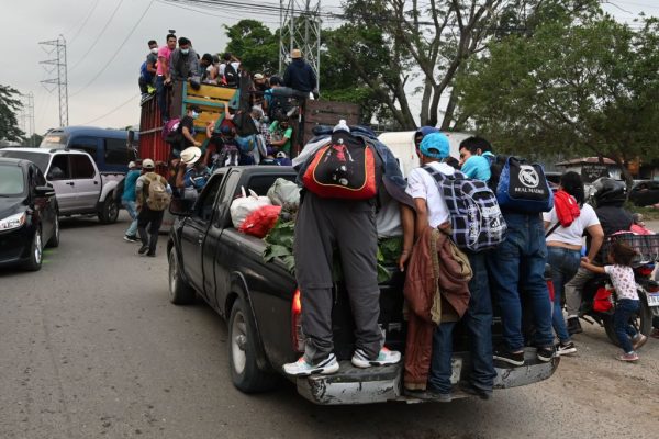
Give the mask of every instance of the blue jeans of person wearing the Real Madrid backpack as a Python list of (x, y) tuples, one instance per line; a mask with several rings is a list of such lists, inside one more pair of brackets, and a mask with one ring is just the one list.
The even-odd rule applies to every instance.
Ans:
[(533, 342), (540, 347), (554, 345), (551, 302), (545, 282), (547, 245), (539, 214), (504, 212), (507, 237), (488, 257), (492, 292), (501, 307), (503, 341), (510, 351), (524, 348), (522, 335), (522, 301), (525, 294), (536, 329)]

